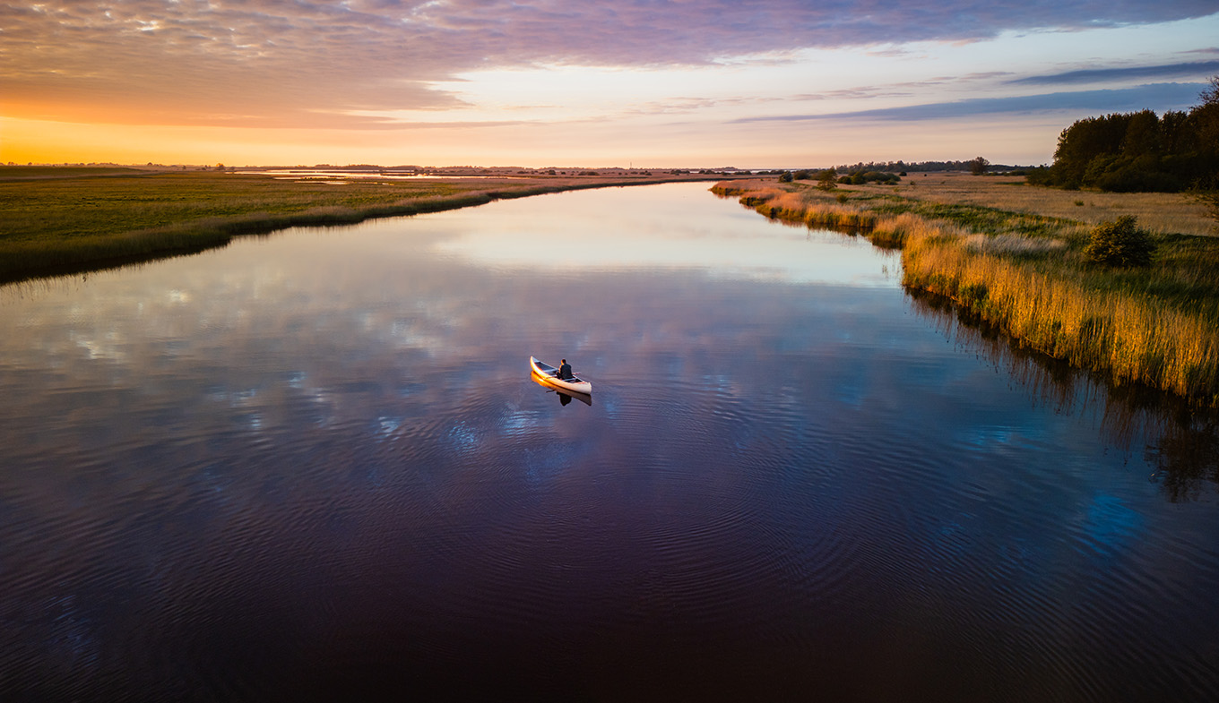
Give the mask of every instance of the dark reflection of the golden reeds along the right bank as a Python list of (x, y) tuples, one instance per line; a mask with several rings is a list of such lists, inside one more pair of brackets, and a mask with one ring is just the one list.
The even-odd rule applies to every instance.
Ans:
[(951, 300), (908, 289), (914, 312), (964, 348), (986, 358), (1056, 413), (1096, 408), (1101, 431), (1124, 452), (1143, 452), (1148, 476), (1173, 502), (1201, 497), (1219, 485), (1219, 413), (1198, 412), (1180, 398), (1135, 385), (1113, 386), (1070, 364), (1013, 344), (997, 328)]

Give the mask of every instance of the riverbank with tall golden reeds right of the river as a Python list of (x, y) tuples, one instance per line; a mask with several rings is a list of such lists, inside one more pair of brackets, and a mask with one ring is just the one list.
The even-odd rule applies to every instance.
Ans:
[(903, 285), (952, 299), (1024, 346), (1117, 384), (1219, 407), (1217, 238), (1143, 224), (1158, 245), (1154, 262), (1114, 269), (1082, 253), (1092, 223), (1036, 211), (1040, 195), (1057, 203), (1063, 191), (1022, 186), (1025, 206), (1006, 210), (930, 197), (925, 188), (918, 197), (901, 186), (822, 191), (762, 180), (712, 190), (773, 219), (857, 231), (901, 249)]

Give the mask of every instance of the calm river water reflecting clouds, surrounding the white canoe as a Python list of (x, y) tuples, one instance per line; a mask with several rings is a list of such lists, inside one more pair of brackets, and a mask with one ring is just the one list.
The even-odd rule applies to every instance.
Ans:
[(0, 699), (1219, 698), (1213, 419), (705, 189), (0, 289)]

